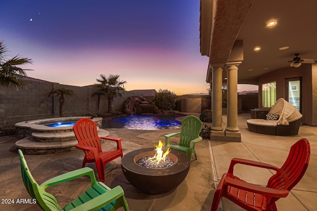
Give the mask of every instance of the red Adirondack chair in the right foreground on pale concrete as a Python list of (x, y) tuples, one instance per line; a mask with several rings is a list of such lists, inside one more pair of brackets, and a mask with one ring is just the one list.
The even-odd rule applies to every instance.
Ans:
[[(308, 140), (297, 141), (289, 152), (284, 165), (279, 169), (269, 164), (233, 158), (227, 173), (217, 186), (213, 196), (211, 211), (216, 211), (221, 197), (225, 197), (247, 211), (277, 211), (275, 202), (284, 198), (301, 180), (308, 167), (311, 148)], [(244, 164), (254, 167), (275, 170), (266, 187), (252, 184), (234, 176), (233, 167)]]

